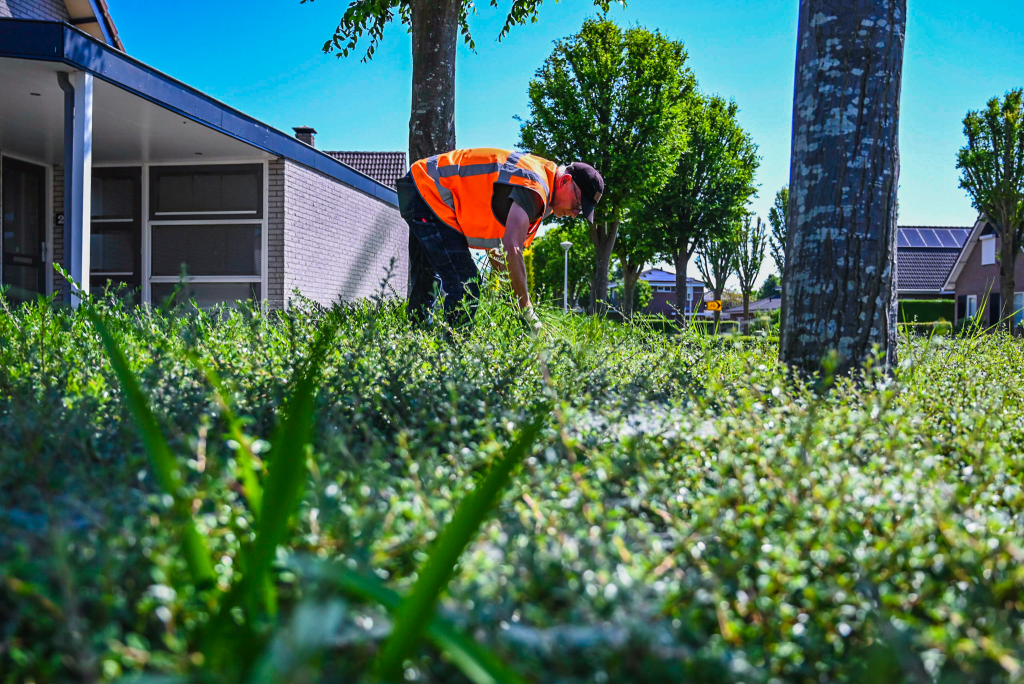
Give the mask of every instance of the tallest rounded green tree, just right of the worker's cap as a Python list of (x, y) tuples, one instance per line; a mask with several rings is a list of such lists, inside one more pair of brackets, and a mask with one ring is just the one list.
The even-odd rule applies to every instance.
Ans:
[(600, 171), (605, 193), (590, 241), (592, 309), (606, 301), (620, 222), (656, 193), (685, 148), (687, 99), (695, 85), (683, 44), (641, 27), (588, 19), (555, 49), (529, 84), (529, 118), (520, 145)]

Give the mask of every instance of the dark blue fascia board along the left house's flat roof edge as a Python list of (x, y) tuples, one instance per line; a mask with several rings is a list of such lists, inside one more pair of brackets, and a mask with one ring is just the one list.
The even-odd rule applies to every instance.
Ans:
[(59, 22), (0, 18), (0, 56), (58, 61), (89, 72), (185, 119), (324, 173), (398, 206), (398, 194), (347, 164)]

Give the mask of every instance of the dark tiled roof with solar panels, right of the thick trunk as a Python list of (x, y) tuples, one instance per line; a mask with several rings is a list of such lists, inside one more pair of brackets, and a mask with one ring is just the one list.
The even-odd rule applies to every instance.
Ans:
[(970, 234), (970, 226), (899, 226), (896, 240), (897, 291), (942, 292), (946, 276)]

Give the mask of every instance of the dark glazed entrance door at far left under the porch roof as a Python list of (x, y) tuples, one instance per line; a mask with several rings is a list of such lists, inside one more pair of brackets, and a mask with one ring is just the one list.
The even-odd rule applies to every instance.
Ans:
[(46, 169), (4, 157), (0, 185), (0, 280), (8, 299), (24, 302), (46, 294)]

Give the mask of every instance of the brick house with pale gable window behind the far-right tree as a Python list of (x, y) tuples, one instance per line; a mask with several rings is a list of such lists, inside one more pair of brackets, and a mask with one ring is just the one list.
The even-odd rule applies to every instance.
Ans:
[[(1000, 285), (999, 253), (1001, 240), (994, 225), (985, 217), (974, 224), (964, 247), (943, 283), (943, 288), (955, 293), (956, 320), (982, 315), (982, 323), (994, 326), (999, 320)], [(1014, 326), (1022, 323), (1024, 309), (1024, 259), (1018, 257), (1014, 268)]]

